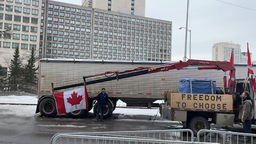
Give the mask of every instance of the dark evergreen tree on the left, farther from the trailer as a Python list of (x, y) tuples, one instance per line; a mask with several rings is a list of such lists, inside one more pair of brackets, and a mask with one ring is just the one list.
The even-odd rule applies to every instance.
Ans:
[(11, 60), (9, 76), (11, 84), (20, 84), (22, 77), (22, 67), (20, 60), (20, 51), (18, 46), (15, 48), (13, 59)]

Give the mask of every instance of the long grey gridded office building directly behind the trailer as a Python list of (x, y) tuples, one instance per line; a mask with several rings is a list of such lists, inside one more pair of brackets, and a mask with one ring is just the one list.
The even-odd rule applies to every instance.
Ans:
[(39, 58), (171, 60), (172, 22), (42, 1)]

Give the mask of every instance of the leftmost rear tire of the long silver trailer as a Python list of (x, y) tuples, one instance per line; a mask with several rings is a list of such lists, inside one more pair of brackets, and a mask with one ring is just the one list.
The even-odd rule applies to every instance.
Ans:
[(45, 98), (39, 103), (39, 112), (45, 117), (54, 117), (57, 115), (57, 108), (55, 100), (52, 98)]

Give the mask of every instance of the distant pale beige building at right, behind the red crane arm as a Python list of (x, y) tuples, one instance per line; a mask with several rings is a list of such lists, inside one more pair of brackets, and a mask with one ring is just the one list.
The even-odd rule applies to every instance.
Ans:
[(234, 51), (235, 63), (247, 61), (247, 52), (241, 53), (241, 45), (233, 43), (215, 43), (212, 47), (212, 60), (230, 61), (232, 50)]

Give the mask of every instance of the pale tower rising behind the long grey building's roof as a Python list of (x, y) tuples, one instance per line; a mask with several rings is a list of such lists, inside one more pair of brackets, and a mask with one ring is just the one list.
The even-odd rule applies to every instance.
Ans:
[(145, 17), (146, 0), (82, 0), (83, 6)]

